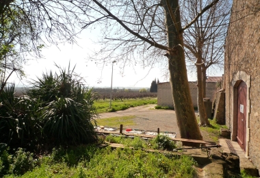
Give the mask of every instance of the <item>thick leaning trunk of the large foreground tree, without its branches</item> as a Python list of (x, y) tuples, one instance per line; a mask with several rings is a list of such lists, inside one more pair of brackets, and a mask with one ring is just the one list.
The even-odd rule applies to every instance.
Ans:
[[(181, 29), (179, 2), (170, 1), (170, 8), (174, 12), (174, 18), (177, 21), (175, 24), (170, 16), (170, 8), (168, 8), (166, 0), (161, 0), (161, 4), (164, 6), (166, 12), (166, 30), (168, 31), (168, 47), (170, 47), (166, 56), (169, 63), (172, 97), (181, 138), (203, 140), (196, 120), (190, 87), (187, 81), (183, 34), (177, 30)], [(196, 144), (191, 143), (185, 143), (185, 145), (196, 146)]]

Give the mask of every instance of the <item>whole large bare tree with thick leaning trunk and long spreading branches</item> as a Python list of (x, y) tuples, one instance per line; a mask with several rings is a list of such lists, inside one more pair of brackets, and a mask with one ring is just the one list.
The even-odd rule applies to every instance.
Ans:
[[(86, 3), (93, 14), (83, 28), (101, 24), (104, 47), (95, 54), (103, 64), (117, 60), (127, 64), (154, 64), (168, 59), (170, 84), (181, 138), (202, 140), (187, 81), (183, 31), (215, 5), (213, 0), (189, 23), (181, 26), (179, 1), (96, 1)], [(138, 61), (139, 58), (142, 60)], [(92, 60), (94, 60), (92, 59)], [(194, 144), (191, 144), (194, 145)]]

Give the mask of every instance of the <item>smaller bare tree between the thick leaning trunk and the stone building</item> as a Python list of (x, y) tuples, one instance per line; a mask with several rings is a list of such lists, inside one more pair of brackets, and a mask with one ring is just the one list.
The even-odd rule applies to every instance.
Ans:
[[(183, 1), (183, 21), (192, 21), (207, 3), (208, 0)], [(202, 14), (183, 35), (187, 59), (196, 66), (199, 125), (210, 125), (203, 103), (203, 98), (206, 97), (206, 73), (213, 65), (223, 67), (223, 46), (230, 10), (231, 1), (220, 1)]]

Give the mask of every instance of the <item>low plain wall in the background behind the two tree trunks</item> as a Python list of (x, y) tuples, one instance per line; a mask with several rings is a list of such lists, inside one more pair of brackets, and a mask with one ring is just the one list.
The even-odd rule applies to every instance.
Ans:
[[(197, 107), (197, 86), (196, 82), (189, 81), (190, 92), (192, 95), (192, 103), (194, 107)], [(157, 105), (161, 106), (173, 106), (172, 91), (170, 88), (170, 82), (159, 83), (157, 87)], [(206, 97), (211, 101), (216, 94), (216, 83), (211, 82), (206, 85)]]

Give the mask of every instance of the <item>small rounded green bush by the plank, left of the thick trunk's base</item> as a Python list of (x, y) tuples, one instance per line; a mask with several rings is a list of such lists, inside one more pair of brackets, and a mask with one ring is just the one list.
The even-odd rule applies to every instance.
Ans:
[(174, 142), (170, 140), (170, 138), (166, 135), (158, 135), (154, 142), (154, 149), (167, 149), (167, 150), (173, 150), (176, 148), (176, 145)]

